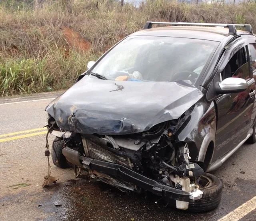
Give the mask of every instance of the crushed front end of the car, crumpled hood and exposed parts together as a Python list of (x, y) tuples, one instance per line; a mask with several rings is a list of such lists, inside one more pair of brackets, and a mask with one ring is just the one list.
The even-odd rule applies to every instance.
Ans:
[(202, 92), (189, 81), (118, 81), (122, 90), (113, 91), (116, 84), (85, 75), (46, 107), (63, 155), (98, 180), (150, 191), (188, 209), (191, 199), (202, 197), (197, 178), (204, 171), (190, 162), (177, 132)]

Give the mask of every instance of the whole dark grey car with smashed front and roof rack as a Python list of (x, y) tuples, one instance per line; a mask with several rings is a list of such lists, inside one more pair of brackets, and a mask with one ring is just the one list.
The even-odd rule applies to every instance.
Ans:
[(255, 59), (250, 25), (147, 22), (46, 107), (54, 164), (178, 209), (218, 207), (206, 172), (256, 142)]

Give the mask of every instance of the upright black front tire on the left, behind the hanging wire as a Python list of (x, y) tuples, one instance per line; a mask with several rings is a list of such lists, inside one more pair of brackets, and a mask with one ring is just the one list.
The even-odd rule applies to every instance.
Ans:
[(66, 160), (65, 156), (62, 154), (63, 147), (63, 140), (56, 137), (52, 143), (52, 162), (55, 166), (58, 166), (59, 168), (70, 168), (70, 164)]

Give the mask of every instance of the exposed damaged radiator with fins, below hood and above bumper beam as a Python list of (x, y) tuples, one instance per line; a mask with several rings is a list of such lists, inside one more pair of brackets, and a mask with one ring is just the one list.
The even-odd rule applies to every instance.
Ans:
[(101, 146), (94, 144), (90, 140), (86, 140), (88, 154), (91, 158), (96, 160), (104, 160), (106, 162), (116, 163), (128, 168), (132, 168), (132, 163), (129, 163), (128, 157), (116, 155)]

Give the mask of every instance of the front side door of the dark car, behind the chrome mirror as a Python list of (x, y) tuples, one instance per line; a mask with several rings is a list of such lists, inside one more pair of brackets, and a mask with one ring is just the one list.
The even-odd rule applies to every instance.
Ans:
[(229, 59), (226, 59), (226, 62), (225, 59), (222, 60), (224, 68), (221, 71), (221, 76), (215, 77), (221, 77), (220, 80), (228, 77), (243, 78), (247, 81), (248, 88), (246, 91), (224, 94), (215, 99), (217, 128), (213, 160), (220, 158), (244, 140), (252, 125), (251, 115), (255, 97), (253, 95), (255, 93), (255, 83), (250, 73), (248, 45), (239, 41), (235, 45), (223, 54)]

